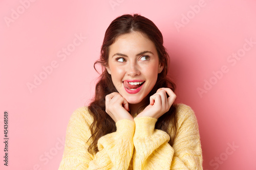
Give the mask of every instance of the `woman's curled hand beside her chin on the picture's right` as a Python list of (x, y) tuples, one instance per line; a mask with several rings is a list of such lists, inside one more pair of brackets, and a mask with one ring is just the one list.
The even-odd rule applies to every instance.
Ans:
[[(167, 99), (167, 95), (169, 95)], [(137, 117), (148, 116), (159, 118), (166, 113), (173, 105), (176, 94), (170, 88), (159, 88), (155, 94), (150, 96), (150, 105), (148, 105)]]

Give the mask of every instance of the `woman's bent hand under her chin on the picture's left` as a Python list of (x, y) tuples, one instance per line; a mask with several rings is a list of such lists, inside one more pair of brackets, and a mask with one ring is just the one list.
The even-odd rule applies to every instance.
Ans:
[(117, 122), (121, 119), (133, 120), (133, 116), (129, 113), (128, 102), (118, 93), (113, 92), (105, 97), (106, 113)]

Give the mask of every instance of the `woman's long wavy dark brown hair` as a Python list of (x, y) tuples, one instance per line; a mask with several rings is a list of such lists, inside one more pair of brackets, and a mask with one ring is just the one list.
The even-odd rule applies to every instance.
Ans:
[[(158, 74), (157, 82), (153, 87), (152, 91), (146, 96), (148, 100), (138, 109), (142, 111), (147, 105), (150, 104), (150, 96), (156, 93), (157, 89), (161, 87), (168, 87), (175, 91), (176, 85), (167, 78), (168, 72), (168, 59), (169, 56), (163, 46), (163, 36), (156, 25), (150, 20), (139, 14), (129, 15), (125, 14), (117, 17), (113, 20), (105, 32), (104, 40), (101, 46), (100, 59), (94, 63), (102, 65), (102, 74), (98, 78), (96, 84), (95, 96), (89, 105), (90, 114), (93, 116), (93, 123), (90, 127), (92, 136), (92, 144), (89, 147), (89, 152), (91, 154), (97, 153), (97, 142), (101, 136), (112, 133), (116, 131), (116, 125), (114, 120), (105, 112), (105, 96), (112, 93), (118, 92), (112, 82), (111, 75), (106, 71), (106, 66), (108, 66), (110, 45), (115, 42), (118, 36), (131, 33), (140, 32), (147, 36), (148, 39), (154, 42), (158, 56), (159, 62), (164, 65), (163, 70)], [(172, 125), (172, 130), (168, 131), (168, 126)], [(176, 120), (176, 104), (173, 104), (169, 111), (158, 118), (155, 125), (155, 129), (160, 129), (165, 131), (170, 135), (173, 131), (176, 134), (177, 130), (177, 120)], [(173, 145), (173, 139), (169, 140), (169, 144)]]

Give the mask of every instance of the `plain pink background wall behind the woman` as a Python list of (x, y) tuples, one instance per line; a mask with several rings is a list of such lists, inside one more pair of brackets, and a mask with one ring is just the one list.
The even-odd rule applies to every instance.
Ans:
[[(164, 36), (178, 103), (197, 115), (204, 169), (256, 169), (255, 7), (249, 0), (2, 0), (0, 168), (58, 168), (69, 118), (94, 93), (93, 63), (106, 28), (117, 16), (140, 13)], [(39, 76), (44, 80), (29, 89)]]

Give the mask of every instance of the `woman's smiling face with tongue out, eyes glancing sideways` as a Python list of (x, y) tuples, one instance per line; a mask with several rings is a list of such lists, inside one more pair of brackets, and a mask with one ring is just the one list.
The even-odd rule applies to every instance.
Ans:
[(132, 32), (119, 36), (110, 46), (106, 69), (122, 97), (138, 104), (155, 86), (163, 65), (154, 42), (140, 32)]

